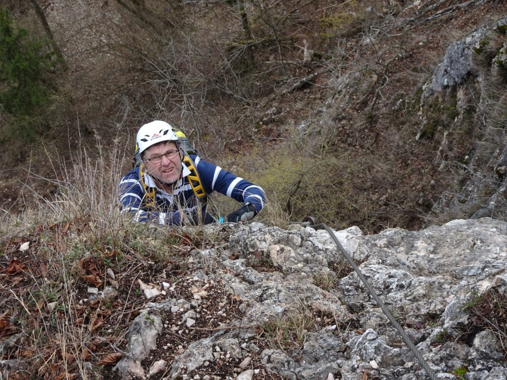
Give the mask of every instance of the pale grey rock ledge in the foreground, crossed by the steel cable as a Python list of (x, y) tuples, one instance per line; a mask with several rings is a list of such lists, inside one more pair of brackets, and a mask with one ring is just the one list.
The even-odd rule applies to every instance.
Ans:
[[(229, 323), (180, 347), (162, 378), (226, 378), (199, 374), (219, 368), (219, 362), (229, 363), (237, 378), (262, 378), (262, 371), (292, 380), (428, 378), (355, 272), (343, 276), (343, 258), (327, 232), (251, 223), (206, 226), (204, 233), (216, 236), (225, 228), (231, 234), (225, 251), (191, 253), (206, 268), (188, 276), (193, 299), (177, 299), (169, 289), (166, 300), (150, 303), (137, 317), (142, 323), (134, 322), (129, 354), (117, 366), (122, 378), (135, 377), (129, 368), (147, 355), (146, 344), (137, 339), (144, 335), (139, 328), (159, 331), (155, 316), (165, 311), (182, 313), (183, 327), (173, 326), (174, 331), (192, 329), (185, 326), (189, 311), (197, 322), (204, 320), (208, 291), (216, 284), (224, 284), (217, 289), (241, 305)], [(481, 302), (488, 297), (506, 299), (507, 223), (454, 220), (419, 232), (387, 229), (371, 236), (351, 227), (335, 235), (439, 379), (506, 378), (501, 331), (481, 322), (479, 314), (486, 313)], [(492, 315), (507, 313), (505, 302), (494, 305), (498, 313)], [(289, 320), (298, 334), (283, 335)], [(277, 334), (269, 340), (272, 331)], [(269, 344), (261, 344), (263, 339)], [(152, 362), (161, 350), (151, 352)]]

